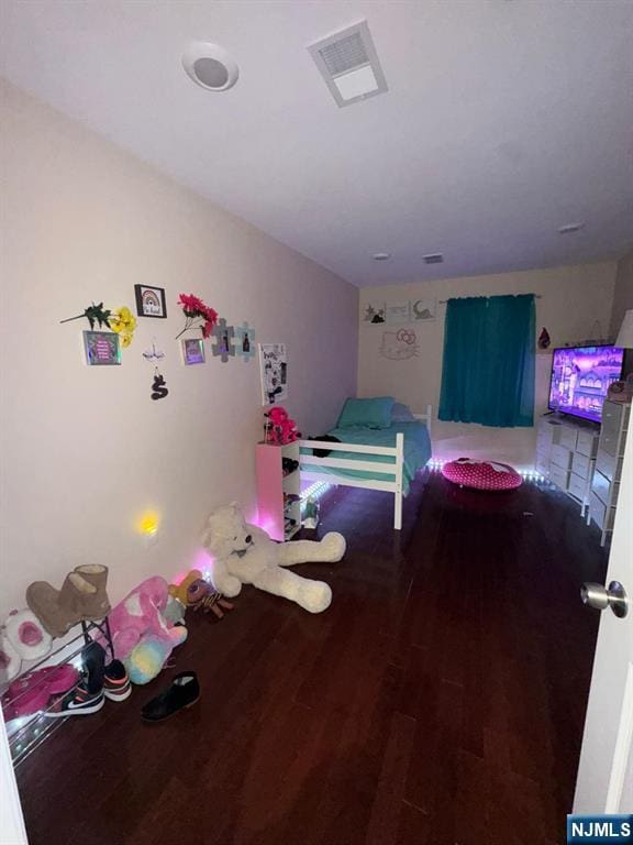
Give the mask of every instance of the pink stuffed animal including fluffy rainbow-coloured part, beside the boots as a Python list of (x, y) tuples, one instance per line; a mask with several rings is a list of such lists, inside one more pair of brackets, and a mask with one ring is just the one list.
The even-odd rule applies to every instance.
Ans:
[[(131, 674), (133, 667), (140, 661), (143, 662), (140, 674), (145, 680), (142, 683), (147, 683), (155, 678), (171, 650), (187, 639), (187, 628), (184, 625), (175, 625), (164, 615), (168, 600), (167, 581), (159, 575), (154, 575), (132, 590), (108, 617), (114, 655), (125, 663)], [(149, 639), (153, 644), (149, 649), (136, 650)], [(156, 647), (157, 640), (164, 648)], [(147, 654), (151, 657), (146, 659)], [(158, 666), (158, 654), (163, 655), (160, 666)]]

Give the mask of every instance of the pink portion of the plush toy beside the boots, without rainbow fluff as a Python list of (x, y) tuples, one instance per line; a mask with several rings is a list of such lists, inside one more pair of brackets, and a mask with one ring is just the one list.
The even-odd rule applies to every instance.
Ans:
[(146, 637), (163, 640), (168, 646), (168, 655), (187, 639), (187, 628), (174, 627), (163, 615), (168, 599), (167, 581), (155, 575), (138, 584), (110, 612), (114, 655), (120, 660), (125, 660)]

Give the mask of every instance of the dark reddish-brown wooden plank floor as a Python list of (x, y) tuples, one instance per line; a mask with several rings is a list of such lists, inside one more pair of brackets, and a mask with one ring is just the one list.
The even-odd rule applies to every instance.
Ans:
[[(329, 494), (340, 564), (311, 564), (312, 616), (245, 589), (192, 619), (177, 666), (68, 720), (18, 770), (31, 845), (563, 843), (598, 615), (598, 534), (562, 494), (415, 482)], [(141, 705), (195, 669), (202, 699), (163, 725)]]

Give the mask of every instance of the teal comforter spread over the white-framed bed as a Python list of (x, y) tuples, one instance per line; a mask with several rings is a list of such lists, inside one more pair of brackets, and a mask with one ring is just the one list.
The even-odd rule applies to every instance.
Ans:
[[(424, 422), (393, 422), (389, 428), (333, 428), (329, 435), (336, 437), (342, 443), (358, 443), (360, 446), (396, 446), (396, 435), (404, 435), (404, 467), (402, 472), (403, 493), (409, 493), (409, 484), (418, 470), (422, 469), (431, 458), (431, 439)], [(327, 449), (327, 443), (323, 443)], [(301, 449), (302, 454), (310, 454), (311, 449)], [(331, 458), (346, 458), (351, 461), (373, 461), (376, 464), (395, 463), (395, 459), (386, 454), (360, 454), (357, 452), (331, 452)], [(393, 481), (393, 473), (368, 472), (362, 470), (327, 469), (326, 467), (302, 464), (304, 472), (319, 472), (327, 475), (346, 475), (353, 479), (373, 479), (374, 481)], [(334, 479), (333, 479), (334, 481)]]

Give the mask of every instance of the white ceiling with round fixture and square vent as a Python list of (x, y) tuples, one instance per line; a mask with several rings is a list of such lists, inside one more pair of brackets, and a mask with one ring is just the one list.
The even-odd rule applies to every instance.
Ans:
[[(338, 109), (306, 47), (365, 18), (389, 91)], [(0, 74), (360, 286), (633, 245), (632, 44), (629, 0), (0, 3)]]

